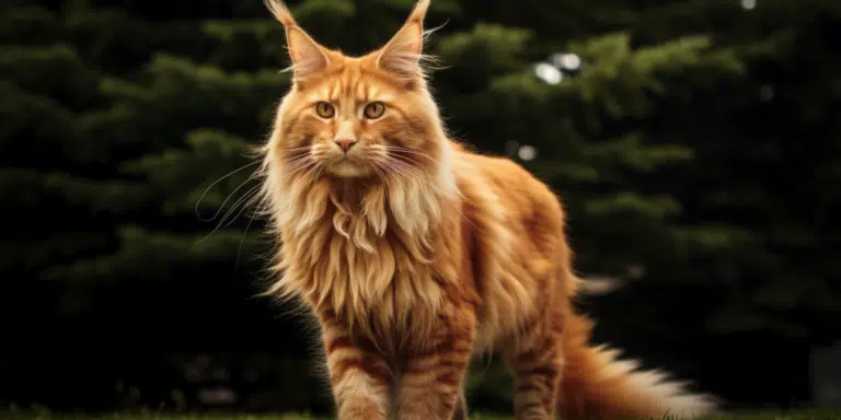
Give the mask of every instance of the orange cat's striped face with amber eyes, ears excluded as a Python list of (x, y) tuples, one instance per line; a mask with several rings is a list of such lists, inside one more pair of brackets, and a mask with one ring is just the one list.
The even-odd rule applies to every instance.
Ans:
[(336, 55), (279, 107), (277, 148), (291, 162), (337, 177), (411, 171), (435, 154), (430, 105), (422, 83), (378, 70), (375, 57)]

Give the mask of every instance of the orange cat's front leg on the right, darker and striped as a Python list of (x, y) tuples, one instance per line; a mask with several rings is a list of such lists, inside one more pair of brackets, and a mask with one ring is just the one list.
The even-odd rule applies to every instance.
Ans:
[(441, 325), (433, 345), (406, 361), (401, 372), (400, 420), (450, 420), (458, 411), (475, 337), (475, 320), (472, 314), (465, 317)]

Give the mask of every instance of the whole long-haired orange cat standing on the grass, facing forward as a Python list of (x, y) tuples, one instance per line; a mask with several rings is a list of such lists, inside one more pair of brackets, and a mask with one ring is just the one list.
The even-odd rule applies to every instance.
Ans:
[(564, 212), (517, 164), (450, 140), (424, 79), (420, 0), (382, 48), (315, 43), (280, 0), (293, 83), (264, 153), (281, 249), (268, 293), (316, 315), (339, 419), (465, 418), (468, 362), (510, 366), (518, 419), (713, 409), (588, 345)]

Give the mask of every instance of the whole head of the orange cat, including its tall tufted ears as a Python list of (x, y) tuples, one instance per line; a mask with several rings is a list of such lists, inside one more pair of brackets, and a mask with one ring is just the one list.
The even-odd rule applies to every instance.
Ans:
[(361, 57), (316, 43), (280, 0), (266, 4), (286, 28), (292, 61), (266, 145), (276, 170), (297, 180), (437, 178), (449, 147), (420, 62), (429, 0)]

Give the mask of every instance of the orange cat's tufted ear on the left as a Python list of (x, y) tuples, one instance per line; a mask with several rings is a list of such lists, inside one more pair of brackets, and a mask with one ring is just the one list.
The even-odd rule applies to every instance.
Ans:
[(298, 25), (286, 4), (281, 0), (264, 0), (264, 3), (286, 28), (286, 44), (292, 59), (295, 80), (304, 80), (326, 69), (330, 58), (325, 48)]

